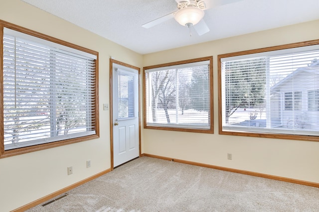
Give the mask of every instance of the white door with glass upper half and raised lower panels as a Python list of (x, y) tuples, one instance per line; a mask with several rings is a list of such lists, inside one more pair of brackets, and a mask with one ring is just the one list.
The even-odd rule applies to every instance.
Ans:
[(139, 157), (138, 70), (113, 63), (113, 167)]

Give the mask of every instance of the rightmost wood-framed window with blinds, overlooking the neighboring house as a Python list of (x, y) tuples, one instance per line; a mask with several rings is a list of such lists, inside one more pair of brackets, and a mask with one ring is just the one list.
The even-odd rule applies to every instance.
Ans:
[(319, 40), (219, 55), (219, 133), (319, 141)]

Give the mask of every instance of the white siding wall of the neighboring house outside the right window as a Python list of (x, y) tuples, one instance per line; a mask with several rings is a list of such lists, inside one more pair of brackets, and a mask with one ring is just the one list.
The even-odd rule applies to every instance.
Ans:
[[(317, 64), (297, 69), (274, 86), (271, 92), (280, 95), (281, 98), (273, 99), (271, 108), (278, 108), (280, 105), (279, 110), (274, 114), (280, 114), (282, 127), (319, 129), (319, 111), (309, 111), (308, 108), (308, 92), (313, 90), (319, 90)], [(277, 115), (273, 117), (276, 119)]]

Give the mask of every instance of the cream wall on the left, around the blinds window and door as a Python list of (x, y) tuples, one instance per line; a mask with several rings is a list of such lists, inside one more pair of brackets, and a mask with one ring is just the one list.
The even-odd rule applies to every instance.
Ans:
[(20, 0), (0, 0), (0, 19), (99, 52), (100, 138), (0, 159), (0, 212), (7, 212), (111, 167), (110, 111), (102, 108), (110, 101), (109, 58), (143, 67), (143, 56)]

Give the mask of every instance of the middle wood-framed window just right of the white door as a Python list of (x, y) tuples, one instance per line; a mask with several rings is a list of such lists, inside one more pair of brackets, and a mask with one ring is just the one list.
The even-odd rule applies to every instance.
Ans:
[(144, 67), (144, 127), (213, 133), (212, 57)]

